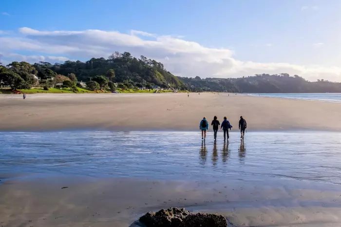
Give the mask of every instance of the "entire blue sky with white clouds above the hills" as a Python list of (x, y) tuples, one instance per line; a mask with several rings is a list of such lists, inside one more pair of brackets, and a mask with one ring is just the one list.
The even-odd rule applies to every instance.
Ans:
[(131, 52), (176, 76), (341, 82), (341, 0), (1, 0), (0, 62)]

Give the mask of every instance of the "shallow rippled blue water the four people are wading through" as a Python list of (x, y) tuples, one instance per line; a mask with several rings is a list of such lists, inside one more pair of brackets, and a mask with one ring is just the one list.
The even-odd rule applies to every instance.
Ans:
[(0, 133), (0, 174), (155, 179), (297, 179), (341, 184), (341, 133)]

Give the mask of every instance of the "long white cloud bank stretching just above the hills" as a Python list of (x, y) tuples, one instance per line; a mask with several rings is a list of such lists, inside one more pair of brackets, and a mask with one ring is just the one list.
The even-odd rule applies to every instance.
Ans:
[[(132, 32), (133, 31), (133, 32)], [(107, 57), (112, 52), (131, 52), (162, 62), (177, 76), (241, 77), (255, 73), (297, 74), (308, 80), (324, 78), (341, 81), (341, 68), (289, 63), (259, 63), (241, 61), (226, 48), (208, 48), (199, 43), (170, 35), (154, 35), (132, 30), (130, 34), (117, 31), (38, 31), (20, 28), (20, 35), (1, 36), (2, 59), (60, 62), (73, 59)], [(148, 39), (145, 38), (148, 36)], [(270, 43), (263, 45), (270, 47)], [(260, 47), (262, 48), (262, 47)], [(8, 54), (13, 52), (38, 52), (33, 56)], [(58, 55), (60, 57), (53, 57)]]

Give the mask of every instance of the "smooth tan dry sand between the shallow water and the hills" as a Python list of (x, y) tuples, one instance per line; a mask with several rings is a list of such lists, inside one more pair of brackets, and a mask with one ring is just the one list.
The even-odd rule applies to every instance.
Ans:
[(227, 116), (234, 130), (341, 130), (341, 104), (227, 93), (0, 95), (0, 130), (199, 130)]

